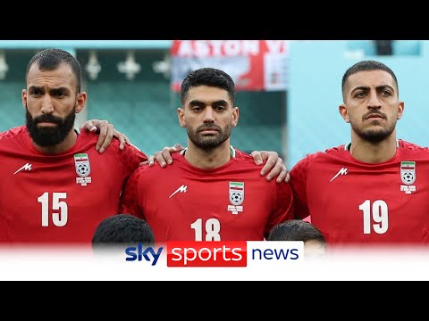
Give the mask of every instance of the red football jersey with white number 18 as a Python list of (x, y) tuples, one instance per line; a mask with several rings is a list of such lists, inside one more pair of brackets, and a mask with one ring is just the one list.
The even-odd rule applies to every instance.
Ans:
[(292, 215), (290, 185), (267, 182), (251, 156), (234, 150), (218, 169), (198, 169), (181, 153), (162, 169), (140, 167), (122, 193), (122, 213), (145, 218), (156, 242), (259, 241)]

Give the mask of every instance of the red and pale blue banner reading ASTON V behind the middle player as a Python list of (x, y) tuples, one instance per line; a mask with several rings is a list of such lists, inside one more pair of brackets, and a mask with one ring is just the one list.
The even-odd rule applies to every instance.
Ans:
[(237, 91), (286, 90), (289, 40), (173, 40), (172, 90), (191, 70), (227, 72)]

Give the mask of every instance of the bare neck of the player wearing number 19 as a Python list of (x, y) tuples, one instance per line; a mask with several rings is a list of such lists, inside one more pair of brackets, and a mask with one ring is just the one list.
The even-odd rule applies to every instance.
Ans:
[(395, 156), (397, 144), (394, 133), (379, 143), (370, 143), (358, 136), (352, 136), (349, 151), (357, 161), (381, 163)]

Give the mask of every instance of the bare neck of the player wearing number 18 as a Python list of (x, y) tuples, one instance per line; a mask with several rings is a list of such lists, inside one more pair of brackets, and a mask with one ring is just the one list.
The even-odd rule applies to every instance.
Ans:
[(231, 144), (228, 139), (223, 144), (206, 151), (198, 148), (188, 139), (185, 159), (198, 169), (216, 169), (231, 160)]

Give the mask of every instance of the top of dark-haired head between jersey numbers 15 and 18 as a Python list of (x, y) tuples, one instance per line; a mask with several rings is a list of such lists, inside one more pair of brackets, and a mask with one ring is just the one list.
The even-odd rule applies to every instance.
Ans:
[(105, 218), (92, 237), (93, 247), (120, 246), (143, 243), (153, 245), (155, 236), (143, 218), (130, 214), (116, 214)]

